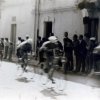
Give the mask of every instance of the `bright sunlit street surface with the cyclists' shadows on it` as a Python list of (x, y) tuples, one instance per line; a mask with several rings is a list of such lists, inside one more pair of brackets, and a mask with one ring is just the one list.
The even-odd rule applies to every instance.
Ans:
[(98, 76), (63, 76), (56, 72), (56, 84), (52, 84), (40, 69), (28, 66), (27, 70), (23, 73), (18, 64), (0, 62), (0, 100), (100, 99)]

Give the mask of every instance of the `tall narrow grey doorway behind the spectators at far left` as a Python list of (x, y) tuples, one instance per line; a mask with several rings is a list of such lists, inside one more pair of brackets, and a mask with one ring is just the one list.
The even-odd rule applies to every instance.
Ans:
[(11, 24), (11, 36), (10, 41), (13, 43), (13, 51), (16, 48), (16, 24)]

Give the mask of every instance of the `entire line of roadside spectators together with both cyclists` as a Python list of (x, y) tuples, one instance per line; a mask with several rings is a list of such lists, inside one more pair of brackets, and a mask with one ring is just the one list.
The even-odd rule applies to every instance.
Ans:
[[(53, 73), (57, 66), (63, 67), (63, 71), (90, 73), (93, 68), (93, 50), (97, 46), (96, 38), (89, 37), (88, 34), (73, 35), (73, 39), (68, 37), (68, 32), (64, 33), (63, 45), (59, 39), (51, 34), (48, 38), (37, 37), (36, 58), (39, 58), (41, 68), (48, 73), (49, 79), (52, 79)], [(9, 42), (8, 38), (0, 40), (0, 56), (2, 59), (12, 60), (14, 44)], [(32, 39), (26, 36), (26, 39), (18, 37), (16, 44), (16, 55), (22, 59), (21, 67), (25, 65), (27, 53), (32, 53)], [(62, 58), (65, 57), (63, 66)], [(26, 62), (27, 63), (27, 62)], [(44, 64), (45, 63), (45, 64)], [(55, 67), (56, 66), (56, 67)], [(24, 68), (24, 70), (25, 70)], [(57, 67), (58, 68), (58, 67)]]

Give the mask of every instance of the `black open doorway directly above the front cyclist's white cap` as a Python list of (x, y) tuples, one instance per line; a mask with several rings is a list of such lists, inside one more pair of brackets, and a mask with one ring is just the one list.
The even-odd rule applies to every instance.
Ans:
[(44, 37), (48, 38), (52, 33), (52, 22), (44, 22)]

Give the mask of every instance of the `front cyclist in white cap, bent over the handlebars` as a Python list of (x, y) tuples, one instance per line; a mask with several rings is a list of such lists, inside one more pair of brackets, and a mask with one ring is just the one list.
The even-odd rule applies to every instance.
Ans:
[(53, 73), (55, 71), (55, 67), (53, 65), (55, 49), (57, 48), (57, 37), (50, 36), (48, 41), (44, 42), (43, 45), (40, 47), (40, 52), (44, 50), (46, 56), (46, 67), (44, 71), (48, 73), (48, 78), (55, 83), (53, 80)]

